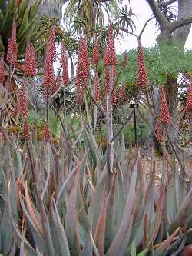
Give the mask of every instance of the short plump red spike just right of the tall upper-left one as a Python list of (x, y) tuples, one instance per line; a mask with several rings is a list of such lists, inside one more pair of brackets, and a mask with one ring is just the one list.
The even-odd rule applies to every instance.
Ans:
[(25, 75), (31, 75), (31, 76), (37, 75), (36, 61), (35, 61), (35, 48), (29, 41), (27, 42), (26, 51), (25, 51), (24, 71), (25, 71)]

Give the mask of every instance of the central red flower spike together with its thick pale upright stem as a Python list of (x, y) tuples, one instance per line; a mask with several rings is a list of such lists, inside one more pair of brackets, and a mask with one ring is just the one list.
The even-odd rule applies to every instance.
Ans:
[(104, 52), (105, 66), (105, 92), (106, 92), (106, 122), (107, 122), (107, 167), (108, 173), (111, 175), (114, 164), (114, 142), (110, 142), (113, 138), (113, 106), (112, 98), (114, 99), (114, 76), (116, 76), (117, 55), (114, 47), (114, 32), (112, 25), (108, 28), (108, 42)]

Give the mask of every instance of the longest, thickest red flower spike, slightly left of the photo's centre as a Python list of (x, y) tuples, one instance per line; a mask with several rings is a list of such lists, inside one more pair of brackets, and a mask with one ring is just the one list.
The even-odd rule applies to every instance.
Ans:
[(81, 105), (83, 103), (83, 94), (86, 90), (86, 84), (89, 78), (89, 58), (88, 48), (85, 38), (80, 38), (78, 43), (78, 64), (77, 64), (77, 75), (75, 84), (77, 87), (77, 103)]

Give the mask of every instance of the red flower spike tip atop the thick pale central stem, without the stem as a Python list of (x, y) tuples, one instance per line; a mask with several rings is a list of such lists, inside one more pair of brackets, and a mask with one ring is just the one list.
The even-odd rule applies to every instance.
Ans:
[(104, 65), (105, 66), (114, 66), (117, 64), (117, 55), (115, 53), (114, 47), (114, 35), (112, 25), (108, 28), (108, 42), (107, 47), (104, 52)]

